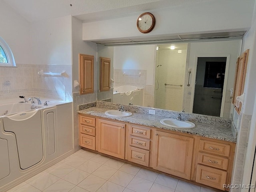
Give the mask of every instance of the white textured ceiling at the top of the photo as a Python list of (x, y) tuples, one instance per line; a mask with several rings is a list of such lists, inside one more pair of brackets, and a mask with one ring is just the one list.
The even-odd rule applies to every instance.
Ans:
[(216, 0), (0, 0), (28, 22), (72, 15), (83, 22), (106, 20), (146, 10)]

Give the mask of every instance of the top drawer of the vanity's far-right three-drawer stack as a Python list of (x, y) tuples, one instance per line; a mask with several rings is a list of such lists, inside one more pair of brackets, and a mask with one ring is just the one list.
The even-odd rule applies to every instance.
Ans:
[(230, 154), (230, 145), (213, 141), (200, 140), (199, 150), (202, 152), (208, 152), (228, 157)]

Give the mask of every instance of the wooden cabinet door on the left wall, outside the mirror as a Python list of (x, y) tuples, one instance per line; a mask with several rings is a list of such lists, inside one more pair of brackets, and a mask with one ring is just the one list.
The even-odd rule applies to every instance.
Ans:
[(80, 94), (94, 92), (94, 56), (79, 54)]

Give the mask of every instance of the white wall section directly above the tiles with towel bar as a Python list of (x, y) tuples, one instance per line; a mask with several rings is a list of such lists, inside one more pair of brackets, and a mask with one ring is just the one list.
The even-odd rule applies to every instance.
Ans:
[(31, 40), (33, 64), (72, 64), (71, 16), (31, 23)]

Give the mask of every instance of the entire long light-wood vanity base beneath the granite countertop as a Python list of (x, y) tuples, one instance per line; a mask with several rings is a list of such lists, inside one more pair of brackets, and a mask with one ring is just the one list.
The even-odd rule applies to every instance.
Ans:
[(192, 134), (80, 118), (80, 146), (220, 190), (230, 184), (236, 144)]

